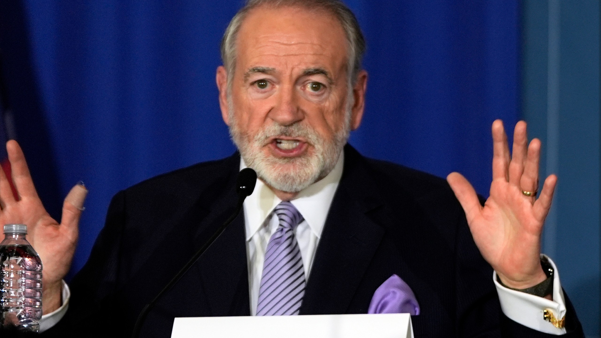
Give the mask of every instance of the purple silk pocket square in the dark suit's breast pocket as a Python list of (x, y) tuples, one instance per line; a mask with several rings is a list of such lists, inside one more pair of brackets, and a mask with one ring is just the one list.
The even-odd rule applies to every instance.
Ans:
[(371, 298), (367, 313), (410, 313), (419, 315), (419, 304), (413, 291), (401, 277), (391, 275)]

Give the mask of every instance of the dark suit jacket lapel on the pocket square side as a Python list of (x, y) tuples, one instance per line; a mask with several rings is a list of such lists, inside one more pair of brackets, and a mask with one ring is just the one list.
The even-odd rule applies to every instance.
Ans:
[(345, 147), (344, 172), (311, 268), (302, 315), (346, 313), (382, 241), (384, 229), (365, 215), (382, 205), (363, 159)]

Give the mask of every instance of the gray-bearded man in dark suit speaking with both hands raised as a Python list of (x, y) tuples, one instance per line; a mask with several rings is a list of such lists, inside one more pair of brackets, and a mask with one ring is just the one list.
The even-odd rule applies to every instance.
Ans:
[[(365, 42), (338, 0), (250, 0), (231, 20), (216, 73), (239, 152), (119, 192), (90, 259), (69, 270), (87, 191), (62, 223), (7, 144), (16, 200), (0, 177), (3, 223), (25, 223), (44, 265), (46, 336), (130, 336), (152, 300), (236, 207), (241, 168), (258, 174), (243, 212), (148, 313), (142, 337), (176, 317), (412, 313), (416, 336), (582, 337), (540, 235), (557, 177), (538, 189), (540, 141), (517, 123), (510, 155), (492, 126), (493, 178), (481, 204), (447, 182), (347, 145), (364, 113)], [(392, 307), (386, 290), (400, 295)], [(388, 294), (388, 293), (386, 293)], [(285, 336), (285, 334), (282, 334)]]

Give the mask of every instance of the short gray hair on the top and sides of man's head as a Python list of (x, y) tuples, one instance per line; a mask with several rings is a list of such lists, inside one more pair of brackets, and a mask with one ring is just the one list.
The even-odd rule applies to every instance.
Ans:
[(238, 13), (231, 19), (221, 40), (221, 60), (228, 73), (228, 87), (231, 86), (236, 67), (236, 37), (240, 31), (240, 26), (248, 12), (260, 6), (323, 10), (335, 16), (344, 29), (349, 46), (349, 63), (347, 64), (349, 84), (355, 84), (365, 52), (365, 38), (361, 33), (361, 27), (359, 27), (355, 14), (341, 0), (247, 0), (244, 7), (240, 8)]

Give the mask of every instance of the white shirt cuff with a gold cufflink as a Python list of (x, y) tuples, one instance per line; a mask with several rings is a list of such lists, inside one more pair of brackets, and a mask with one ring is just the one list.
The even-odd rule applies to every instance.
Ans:
[[(549, 259), (549, 257), (547, 258)], [(496, 292), (499, 295), (499, 301), (501, 302), (501, 310), (507, 318), (533, 330), (560, 335), (566, 333), (566, 329), (556, 328), (551, 322), (543, 318), (545, 310), (551, 311), (555, 318), (558, 319), (564, 318), (566, 315), (566, 302), (564, 301), (563, 290), (561, 289), (560, 274), (557, 271), (557, 266), (555, 266), (555, 263), (551, 259), (549, 259), (549, 263), (551, 263), (551, 266), (555, 270), (552, 301), (502, 286), (496, 280), (496, 272), (493, 272), (492, 278), (495, 282)]]

